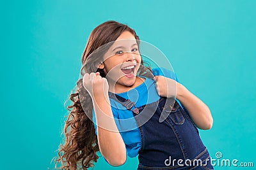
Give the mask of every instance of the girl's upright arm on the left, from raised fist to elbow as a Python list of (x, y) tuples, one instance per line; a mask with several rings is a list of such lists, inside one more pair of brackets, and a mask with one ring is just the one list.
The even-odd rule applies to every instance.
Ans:
[(126, 150), (109, 104), (108, 82), (91, 73), (84, 74), (83, 85), (92, 97), (100, 153), (112, 166), (121, 166), (126, 160)]

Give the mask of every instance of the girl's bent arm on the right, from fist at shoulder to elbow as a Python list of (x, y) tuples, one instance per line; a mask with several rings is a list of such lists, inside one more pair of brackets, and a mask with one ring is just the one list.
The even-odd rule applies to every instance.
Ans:
[(212, 115), (209, 108), (198, 97), (180, 83), (164, 76), (155, 76), (159, 96), (176, 97), (188, 110), (190, 117), (199, 129), (211, 129)]

